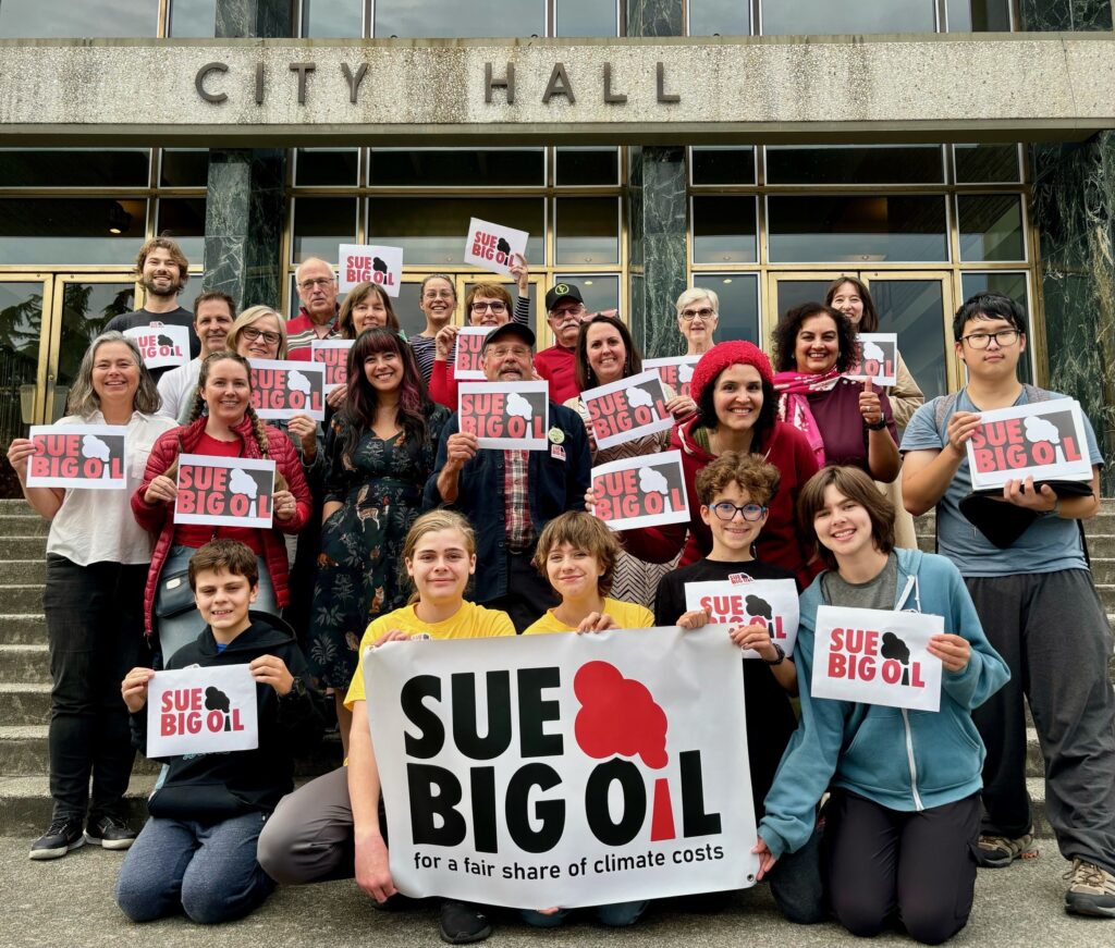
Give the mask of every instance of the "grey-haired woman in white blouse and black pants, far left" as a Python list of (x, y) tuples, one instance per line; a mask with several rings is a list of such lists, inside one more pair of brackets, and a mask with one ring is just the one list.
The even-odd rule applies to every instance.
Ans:
[(8, 449), (23, 496), (50, 521), (43, 604), (55, 805), (50, 827), (31, 847), (31, 859), (55, 859), (86, 842), (127, 849), (135, 839), (122, 803), (135, 751), (120, 681), (129, 668), (151, 662), (143, 605), (152, 538), (136, 524), (129, 501), (155, 439), (175, 427), (173, 419), (156, 417), (158, 407), (158, 390), (135, 343), (106, 332), (85, 353), (69, 413), (57, 424), (127, 428), (126, 487), (28, 487), (35, 444), (17, 438)]

